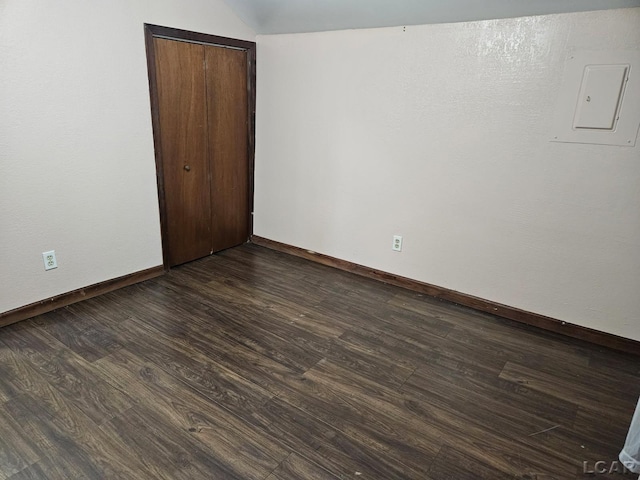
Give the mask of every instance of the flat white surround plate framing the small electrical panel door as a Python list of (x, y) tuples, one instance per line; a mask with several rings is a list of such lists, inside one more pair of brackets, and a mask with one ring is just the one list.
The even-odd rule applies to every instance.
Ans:
[[(576, 110), (579, 106), (585, 71), (588, 71), (589, 67), (607, 65), (628, 68), (628, 80), (622, 93), (619, 118), (615, 128), (612, 130), (576, 128)], [(575, 50), (570, 52), (565, 61), (552, 125), (552, 142), (635, 146), (638, 127), (640, 127), (640, 51)]]

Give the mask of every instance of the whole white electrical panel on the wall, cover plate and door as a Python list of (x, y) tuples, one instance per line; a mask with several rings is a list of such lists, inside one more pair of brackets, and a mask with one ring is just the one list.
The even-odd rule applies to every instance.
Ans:
[(640, 51), (571, 53), (559, 92), (552, 141), (635, 146)]

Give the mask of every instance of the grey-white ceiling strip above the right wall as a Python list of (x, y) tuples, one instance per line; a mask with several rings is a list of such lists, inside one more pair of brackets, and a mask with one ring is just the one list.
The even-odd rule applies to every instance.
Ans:
[(640, 0), (224, 1), (259, 34), (465, 22), (640, 7)]

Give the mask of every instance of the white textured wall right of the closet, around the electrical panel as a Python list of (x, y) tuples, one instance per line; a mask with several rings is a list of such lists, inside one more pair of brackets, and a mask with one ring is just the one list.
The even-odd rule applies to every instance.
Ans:
[(640, 147), (549, 142), (568, 52), (639, 26), (258, 36), (255, 234), (640, 340)]

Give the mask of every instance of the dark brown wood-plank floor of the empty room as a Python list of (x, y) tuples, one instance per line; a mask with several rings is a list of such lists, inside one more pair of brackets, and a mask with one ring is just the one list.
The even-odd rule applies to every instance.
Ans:
[(639, 394), (638, 357), (245, 245), (0, 329), (0, 479), (635, 478), (588, 472)]

